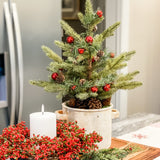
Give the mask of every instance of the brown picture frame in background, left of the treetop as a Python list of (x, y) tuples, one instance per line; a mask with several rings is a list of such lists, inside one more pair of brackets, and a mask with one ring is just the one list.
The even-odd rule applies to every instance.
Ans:
[(62, 19), (78, 19), (80, 0), (62, 0)]

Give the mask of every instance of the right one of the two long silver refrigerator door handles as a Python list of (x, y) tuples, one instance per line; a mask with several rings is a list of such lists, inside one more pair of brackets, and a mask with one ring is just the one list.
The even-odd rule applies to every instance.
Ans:
[(12, 3), (12, 15), (13, 15), (13, 25), (14, 33), (16, 40), (16, 51), (18, 58), (18, 70), (19, 70), (19, 112), (18, 112), (18, 122), (22, 119), (22, 110), (23, 110), (23, 51), (22, 51), (22, 40), (21, 40), (21, 31), (19, 26), (19, 18), (17, 13), (17, 7), (15, 3)]

